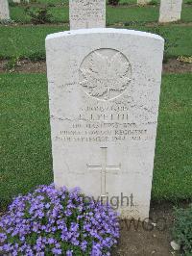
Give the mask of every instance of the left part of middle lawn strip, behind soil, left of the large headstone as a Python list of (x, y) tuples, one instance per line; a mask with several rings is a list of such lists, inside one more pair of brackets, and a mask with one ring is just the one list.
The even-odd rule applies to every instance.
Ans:
[(23, 58), (45, 58), (45, 37), (64, 30), (64, 27), (0, 27), (0, 58), (12, 56)]

